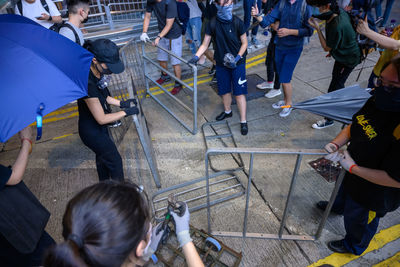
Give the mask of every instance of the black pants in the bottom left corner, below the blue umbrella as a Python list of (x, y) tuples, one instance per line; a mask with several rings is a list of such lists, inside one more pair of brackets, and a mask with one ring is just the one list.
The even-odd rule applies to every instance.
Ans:
[(56, 244), (53, 238), (44, 231), (36, 246), (30, 254), (22, 254), (15, 249), (2, 235), (0, 235), (0, 266), (2, 267), (31, 267), (40, 266), (46, 250)]

